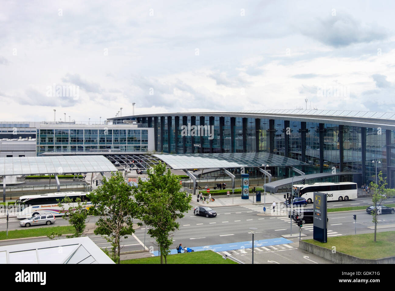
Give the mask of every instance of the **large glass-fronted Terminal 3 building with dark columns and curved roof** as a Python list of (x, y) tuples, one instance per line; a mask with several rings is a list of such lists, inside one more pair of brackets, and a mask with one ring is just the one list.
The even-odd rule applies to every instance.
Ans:
[[(154, 150), (169, 154), (268, 152), (306, 162), (306, 174), (380, 171), (395, 186), (395, 113), (344, 110), (186, 112), (109, 118), (153, 128)], [(374, 161), (374, 162), (373, 162)], [(289, 169), (277, 169), (279, 178)]]

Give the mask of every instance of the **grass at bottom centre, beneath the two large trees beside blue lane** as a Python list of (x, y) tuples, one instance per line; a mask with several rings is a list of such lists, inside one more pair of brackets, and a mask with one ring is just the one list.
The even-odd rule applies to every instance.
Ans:
[[(160, 257), (123, 260), (121, 264), (160, 264)], [(237, 262), (230, 259), (224, 260), (221, 255), (213, 251), (195, 251), (193, 253), (169, 255), (167, 264), (237, 264)]]

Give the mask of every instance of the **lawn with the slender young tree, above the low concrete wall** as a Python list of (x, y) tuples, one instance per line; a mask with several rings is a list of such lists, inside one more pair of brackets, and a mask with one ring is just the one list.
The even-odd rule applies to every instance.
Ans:
[(374, 242), (374, 232), (352, 236), (329, 237), (327, 243), (315, 240), (304, 240), (327, 249), (336, 247), (336, 251), (346, 253), (361, 259), (379, 259), (395, 256), (395, 231), (377, 232), (377, 242)]

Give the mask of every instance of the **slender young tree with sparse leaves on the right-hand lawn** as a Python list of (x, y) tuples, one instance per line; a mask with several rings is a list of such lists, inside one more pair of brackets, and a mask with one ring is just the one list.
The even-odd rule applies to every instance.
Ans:
[(372, 222), (374, 223), (374, 242), (376, 242), (376, 233), (377, 233), (377, 223), (378, 223), (378, 215), (380, 215), (381, 209), (377, 209), (377, 206), (380, 206), (381, 203), (387, 198), (394, 195), (394, 189), (387, 189), (387, 179), (383, 178), (383, 173), (380, 171), (378, 173), (378, 184), (371, 182), (370, 183), (370, 192), (372, 195), (372, 202), (374, 205), (374, 209), (371, 211)]

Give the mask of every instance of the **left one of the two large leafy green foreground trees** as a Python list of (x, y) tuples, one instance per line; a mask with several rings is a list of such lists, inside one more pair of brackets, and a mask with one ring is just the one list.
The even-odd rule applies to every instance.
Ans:
[(134, 233), (133, 219), (138, 213), (137, 203), (130, 198), (132, 186), (125, 183), (121, 172), (111, 173), (103, 185), (88, 194), (94, 207), (89, 214), (100, 216), (94, 234), (106, 235), (111, 243), (111, 259), (120, 264), (120, 239)]

